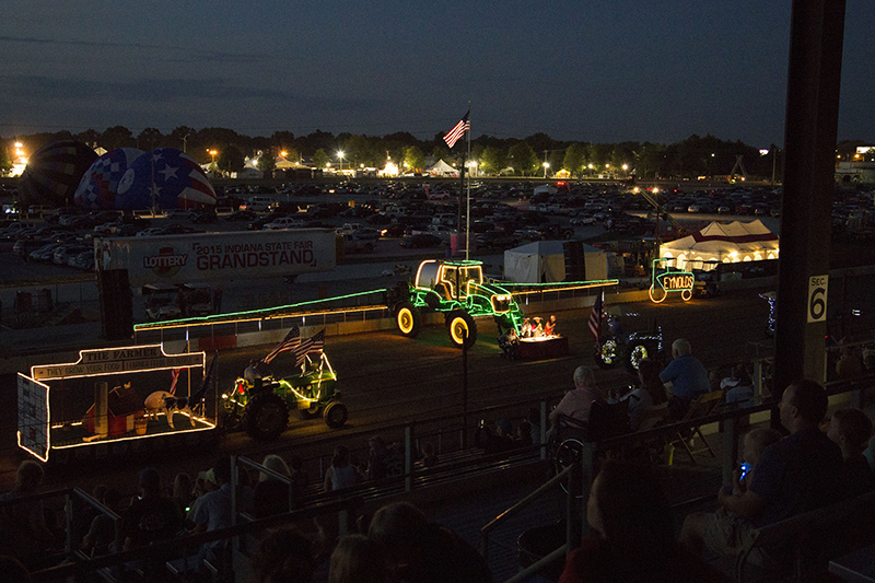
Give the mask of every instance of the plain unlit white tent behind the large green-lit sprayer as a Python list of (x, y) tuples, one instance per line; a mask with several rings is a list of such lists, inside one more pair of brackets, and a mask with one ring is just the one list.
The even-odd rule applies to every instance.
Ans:
[(550, 283), (565, 280), (565, 245), (582, 245), (583, 280), (607, 279), (607, 255), (579, 242), (535, 241), (504, 252), (504, 278), (516, 283)]

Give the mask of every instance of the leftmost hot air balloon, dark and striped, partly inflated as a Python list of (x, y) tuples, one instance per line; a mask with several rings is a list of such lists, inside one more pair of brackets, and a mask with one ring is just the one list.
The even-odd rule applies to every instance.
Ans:
[(22, 202), (71, 206), (77, 186), (96, 159), (93, 149), (75, 140), (47, 143), (34, 152), (19, 179)]

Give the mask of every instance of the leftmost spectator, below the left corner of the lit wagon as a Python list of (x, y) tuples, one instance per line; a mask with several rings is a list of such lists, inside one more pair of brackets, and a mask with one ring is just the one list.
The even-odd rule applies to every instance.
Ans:
[[(32, 459), (19, 464), (15, 488), (0, 495), (0, 501), (18, 500), (35, 494), (43, 483), (43, 466)], [(42, 500), (27, 500), (0, 509), (0, 535), (4, 551), (27, 567), (43, 560), (54, 545), (54, 535), (46, 525)]]

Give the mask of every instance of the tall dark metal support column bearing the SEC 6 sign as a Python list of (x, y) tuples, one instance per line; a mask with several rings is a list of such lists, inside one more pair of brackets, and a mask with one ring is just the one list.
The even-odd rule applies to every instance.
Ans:
[[(826, 320), (809, 323), (809, 281), (829, 273), (844, 0), (794, 0), (778, 271), (774, 393), (822, 381)], [(777, 415), (772, 416), (777, 424)]]

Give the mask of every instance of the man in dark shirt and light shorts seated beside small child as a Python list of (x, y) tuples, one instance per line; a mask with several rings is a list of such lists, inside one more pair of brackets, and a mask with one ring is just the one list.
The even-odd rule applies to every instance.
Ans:
[[(716, 555), (734, 556), (755, 528), (844, 497), (841, 451), (819, 430), (827, 412), (824, 387), (814, 381), (796, 381), (784, 390), (779, 409), (790, 436), (766, 447), (745, 491), (736, 494), (721, 488), (718, 500), (725, 514), (696, 512), (684, 521), (680, 541), (693, 553), (701, 555), (708, 547)], [(770, 550), (758, 548), (750, 560), (778, 568), (780, 549)]]

